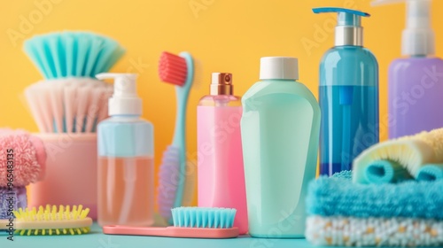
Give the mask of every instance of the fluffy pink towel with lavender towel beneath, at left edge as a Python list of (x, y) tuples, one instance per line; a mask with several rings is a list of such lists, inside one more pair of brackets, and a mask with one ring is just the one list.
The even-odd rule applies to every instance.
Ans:
[(42, 176), (46, 162), (43, 142), (27, 132), (0, 129), (0, 220), (11, 210), (27, 207), (29, 183)]

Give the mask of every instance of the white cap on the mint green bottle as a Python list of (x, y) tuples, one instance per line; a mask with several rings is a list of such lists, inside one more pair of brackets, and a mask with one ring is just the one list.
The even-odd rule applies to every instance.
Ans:
[(261, 79), (299, 79), (299, 60), (291, 57), (260, 58)]

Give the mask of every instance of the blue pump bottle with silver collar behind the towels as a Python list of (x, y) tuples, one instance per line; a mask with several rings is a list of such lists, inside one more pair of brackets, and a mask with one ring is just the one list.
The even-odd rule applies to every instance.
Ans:
[(368, 13), (342, 8), (338, 12), (335, 46), (320, 64), (320, 174), (351, 170), (361, 151), (378, 143), (378, 63), (363, 47), (361, 17)]

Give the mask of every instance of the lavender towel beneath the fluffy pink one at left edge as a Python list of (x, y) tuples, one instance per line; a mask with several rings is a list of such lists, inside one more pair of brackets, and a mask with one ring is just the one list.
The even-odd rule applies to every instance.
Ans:
[[(12, 198), (12, 200), (10, 200)], [(10, 203), (13, 210), (27, 207), (27, 189), (25, 187), (14, 188), (10, 191), (8, 188), (0, 188), (0, 220), (9, 219), (8, 215)]]

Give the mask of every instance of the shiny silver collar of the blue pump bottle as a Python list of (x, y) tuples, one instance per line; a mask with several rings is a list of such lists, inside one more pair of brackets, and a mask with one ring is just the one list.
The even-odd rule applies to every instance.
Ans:
[(363, 27), (335, 27), (335, 46), (363, 46)]

